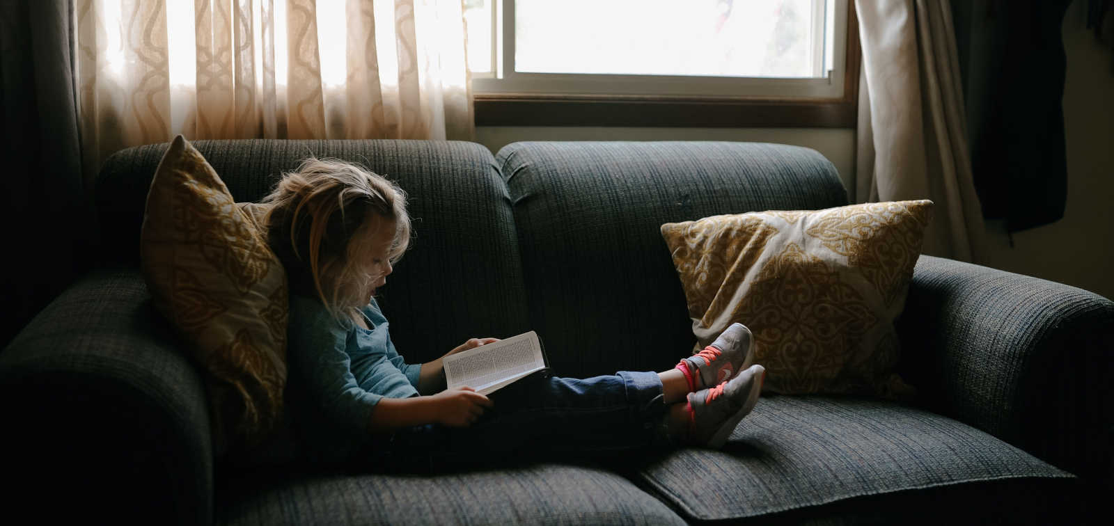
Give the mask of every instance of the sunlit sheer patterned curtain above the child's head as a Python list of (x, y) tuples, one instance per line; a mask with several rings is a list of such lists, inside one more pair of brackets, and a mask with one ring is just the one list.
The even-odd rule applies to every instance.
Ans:
[(460, 0), (77, 0), (85, 166), (208, 138), (471, 139)]

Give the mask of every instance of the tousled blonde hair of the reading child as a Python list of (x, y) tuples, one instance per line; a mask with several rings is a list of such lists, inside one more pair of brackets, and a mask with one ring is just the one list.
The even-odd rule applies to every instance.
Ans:
[[(363, 286), (379, 279), (356, 264), (361, 244), (350, 243), (364, 225), (394, 222), (389, 260), (397, 263), (410, 244), (407, 194), (385, 177), (340, 159), (310, 157), (284, 173), (270, 195), (264, 221), (271, 249), (290, 276), (291, 291), (316, 295), (338, 321), (359, 306)], [(353, 246), (356, 245), (356, 246)]]

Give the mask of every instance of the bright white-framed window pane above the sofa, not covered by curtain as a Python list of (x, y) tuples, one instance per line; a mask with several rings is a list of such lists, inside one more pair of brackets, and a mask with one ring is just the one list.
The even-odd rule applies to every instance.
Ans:
[(466, 0), (477, 92), (839, 97), (847, 0)]

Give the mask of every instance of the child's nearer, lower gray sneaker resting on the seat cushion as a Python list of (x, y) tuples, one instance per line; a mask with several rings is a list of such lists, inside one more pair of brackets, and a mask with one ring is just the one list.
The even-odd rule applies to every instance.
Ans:
[(739, 421), (758, 403), (763, 379), (765, 368), (754, 364), (734, 380), (690, 392), (688, 403), (693, 408), (693, 419), (688, 428), (688, 441), (715, 449), (723, 447)]

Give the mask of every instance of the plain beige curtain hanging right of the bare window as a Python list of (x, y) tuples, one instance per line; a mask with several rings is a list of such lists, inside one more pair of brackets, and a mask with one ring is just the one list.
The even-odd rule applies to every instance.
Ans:
[(854, 199), (936, 203), (922, 252), (977, 261), (986, 226), (947, 2), (856, 0), (862, 42)]

